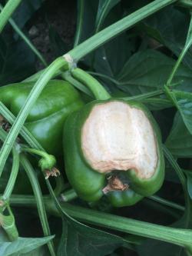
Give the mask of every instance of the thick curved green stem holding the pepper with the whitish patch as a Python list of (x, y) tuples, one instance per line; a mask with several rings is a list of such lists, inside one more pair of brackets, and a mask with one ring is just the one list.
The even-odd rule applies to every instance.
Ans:
[(89, 75), (87, 72), (83, 71), (81, 68), (72, 68), (71, 75), (86, 85), (91, 90), (96, 99), (106, 100), (111, 98), (111, 95), (108, 93), (108, 91), (105, 90), (100, 82)]

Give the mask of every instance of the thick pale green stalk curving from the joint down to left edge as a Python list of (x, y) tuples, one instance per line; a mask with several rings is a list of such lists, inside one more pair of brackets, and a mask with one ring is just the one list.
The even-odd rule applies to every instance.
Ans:
[(15, 123), (12, 125), (12, 128), (10, 129), (8, 136), (5, 139), (4, 144), (2, 145), (2, 149), (0, 151), (0, 177), (5, 166), (5, 161), (7, 160), (8, 155), (12, 150), (14, 141), (17, 138), (19, 131), (22, 129), (22, 126), (24, 125), (33, 104), (41, 94), (43, 88), (45, 88), (45, 85), (48, 83), (48, 81), (52, 78), (53, 75), (55, 75), (55, 72), (60, 68), (66, 67), (66, 65), (67, 62), (65, 61), (65, 58), (57, 58), (55, 62), (52, 62), (51, 65), (46, 68), (45, 72), (40, 76), (34, 87), (31, 89), (25, 104), (23, 105), (21, 111), (19, 111), (18, 116), (15, 119)]

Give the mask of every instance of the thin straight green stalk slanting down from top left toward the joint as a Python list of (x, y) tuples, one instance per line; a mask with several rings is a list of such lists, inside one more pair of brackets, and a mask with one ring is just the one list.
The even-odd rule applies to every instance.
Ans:
[[(0, 10), (2, 11), (3, 7), (0, 4)], [(23, 41), (28, 45), (29, 48), (31, 48), (31, 51), (35, 53), (35, 55), (39, 58), (39, 60), (42, 62), (45, 67), (48, 66), (47, 62), (45, 61), (45, 58), (41, 55), (40, 52), (38, 52), (38, 49), (35, 48), (35, 46), (31, 43), (31, 41), (28, 39), (28, 37), (22, 32), (20, 28), (18, 28), (18, 25), (14, 22), (12, 18), (8, 19), (8, 22), (12, 25), (12, 28), (15, 30), (15, 32), (23, 39)]]

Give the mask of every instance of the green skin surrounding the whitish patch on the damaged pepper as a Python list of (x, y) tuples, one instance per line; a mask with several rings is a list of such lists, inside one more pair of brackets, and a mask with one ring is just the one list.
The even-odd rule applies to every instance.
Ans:
[(136, 171), (133, 169), (127, 170), (129, 189), (127, 191), (111, 191), (108, 193), (108, 198), (114, 206), (132, 205), (140, 201), (144, 196), (154, 194), (161, 188), (164, 181), (164, 155), (161, 149), (161, 134), (151, 112), (141, 103), (117, 99), (97, 100), (84, 105), (81, 111), (72, 114), (65, 122), (64, 128), (65, 169), (71, 186), (80, 198), (85, 201), (98, 201), (102, 197), (102, 189), (107, 183), (106, 174), (94, 170), (84, 158), (84, 153), (81, 149), (81, 131), (92, 108), (95, 105), (104, 104), (104, 102), (109, 101), (121, 101), (131, 107), (141, 109), (154, 129), (158, 156), (154, 175), (151, 178), (138, 178)]

